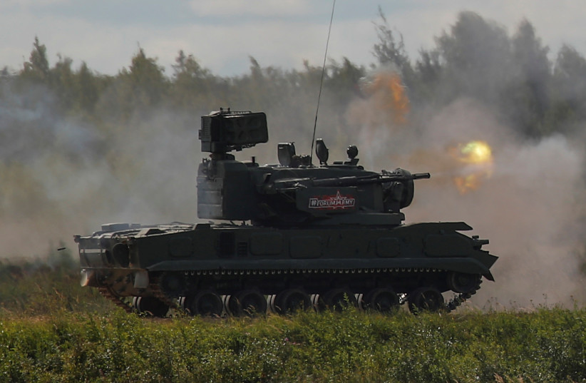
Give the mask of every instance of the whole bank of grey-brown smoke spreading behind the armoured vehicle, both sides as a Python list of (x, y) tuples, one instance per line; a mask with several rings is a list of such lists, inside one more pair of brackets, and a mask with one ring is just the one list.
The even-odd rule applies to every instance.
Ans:
[[(197, 221), (195, 175), (203, 156), (197, 129), (207, 111), (135, 111), (128, 126), (104, 131), (58, 116), (46, 90), (9, 91), (4, 89), (0, 108), (3, 257), (42, 256), (60, 240), (75, 249), (71, 235), (103, 223)], [(331, 145), (332, 155), (357, 143), (366, 168), (432, 173), (431, 180), (416, 182), (406, 223), (464, 221), (474, 228), (466, 234), (488, 238), (485, 248), (500, 257), (492, 270), (496, 281), (483, 283), (473, 305), (572, 305), (586, 299), (581, 140), (523, 141), (490, 106), (471, 98), (412, 111), (404, 123), (388, 118), (381, 105), (374, 96), (351, 103), (344, 116), (348, 142)], [(289, 118), (276, 112), (267, 110), (272, 143), (240, 153), (240, 159), (274, 161), (274, 142), (291, 134)], [(454, 178), (471, 169), (450, 149), (471, 140), (490, 145), (493, 165), (476, 190), (461, 194)]]

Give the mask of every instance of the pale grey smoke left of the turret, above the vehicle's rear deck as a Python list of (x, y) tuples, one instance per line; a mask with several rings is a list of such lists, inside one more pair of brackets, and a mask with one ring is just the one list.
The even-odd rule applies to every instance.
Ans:
[[(56, 112), (46, 88), (1, 89), (0, 258), (43, 258), (111, 222), (194, 222), (195, 114), (133, 111), (127, 126)], [(197, 117), (195, 117), (197, 116)]]

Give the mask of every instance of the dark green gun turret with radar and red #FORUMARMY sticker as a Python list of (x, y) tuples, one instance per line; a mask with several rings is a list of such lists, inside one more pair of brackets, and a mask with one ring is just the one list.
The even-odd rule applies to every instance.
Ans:
[(297, 155), (293, 143), (279, 143), (279, 165), (240, 162), (231, 150), (268, 141), (264, 113), (220, 112), (202, 116), (202, 150), (210, 152), (197, 175), (197, 215), (216, 220), (250, 220), (255, 225), (400, 225), (413, 200), (411, 174), (397, 168), (375, 173), (358, 165), (358, 148), (348, 159), (328, 164), (329, 150), (316, 143), (319, 166)]

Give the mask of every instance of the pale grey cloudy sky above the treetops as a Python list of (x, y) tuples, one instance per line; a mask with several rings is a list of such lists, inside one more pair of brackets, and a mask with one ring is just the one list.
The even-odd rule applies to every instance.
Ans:
[[(144, 48), (171, 74), (178, 51), (192, 54), (221, 76), (248, 71), (249, 56), (261, 66), (321, 65), (331, 0), (1, 0), (0, 67), (16, 71), (29, 59), (35, 36), (51, 66), (57, 55), (115, 74)], [(373, 22), (381, 6), (389, 25), (403, 34), (411, 59), (431, 48), (459, 11), (475, 11), (513, 34), (525, 18), (550, 57), (564, 43), (586, 53), (586, 6), (579, 0), (337, 0), (328, 58), (374, 62)]]

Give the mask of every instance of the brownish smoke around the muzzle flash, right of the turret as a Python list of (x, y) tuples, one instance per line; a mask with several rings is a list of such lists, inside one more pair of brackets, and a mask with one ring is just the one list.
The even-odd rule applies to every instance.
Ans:
[[(376, 101), (361, 99), (347, 114), (353, 123), (363, 121), (363, 165), (431, 173), (430, 180), (416, 181), (413, 203), (403, 210), (406, 223), (464, 221), (474, 229), (465, 234), (489, 239), (484, 248), (500, 257), (491, 269), (495, 282), (483, 282), (474, 306), (585, 302), (582, 140), (523, 141), (490, 106), (470, 98), (441, 110), (415, 111), (406, 124), (381, 122), (388, 111), (376, 108)], [(476, 189), (461, 193), (456, 178), (478, 172), (478, 165), (458, 162), (451, 151), (471, 140), (488, 143), (493, 160)]]

